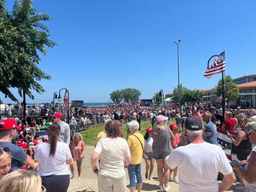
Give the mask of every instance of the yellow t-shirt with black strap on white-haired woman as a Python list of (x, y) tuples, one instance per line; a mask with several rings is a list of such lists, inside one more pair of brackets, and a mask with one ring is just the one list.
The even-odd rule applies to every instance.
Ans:
[[(140, 141), (134, 135), (136, 135)], [(139, 164), (141, 163), (143, 154), (143, 149), (140, 142), (144, 146), (144, 137), (138, 132), (134, 133), (134, 135), (128, 137), (127, 143), (131, 152), (131, 164)]]

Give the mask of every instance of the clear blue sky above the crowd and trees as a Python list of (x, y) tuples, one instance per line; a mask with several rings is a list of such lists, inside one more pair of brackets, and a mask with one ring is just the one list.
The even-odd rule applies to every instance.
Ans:
[[(13, 3), (6, 1), (9, 10)], [(46, 25), (58, 47), (47, 49), (39, 64), (52, 76), (40, 82), (47, 92), (27, 103), (51, 102), (63, 87), (70, 100), (84, 102), (108, 102), (113, 90), (128, 87), (139, 89), (141, 99), (159, 89), (172, 93), (179, 38), (185, 87), (216, 85), (221, 74), (211, 79), (203, 74), (209, 57), (224, 48), (226, 75), (256, 73), (255, 0), (35, 0), (33, 6), (53, 18)]]

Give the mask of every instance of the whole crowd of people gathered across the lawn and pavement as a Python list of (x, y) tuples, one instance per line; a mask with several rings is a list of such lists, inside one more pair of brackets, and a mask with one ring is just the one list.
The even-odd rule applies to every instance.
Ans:
[[(85, 158), (85, 143), (81, 134), (76, 132), (74, 121), (86, 118), (104, 125), (91, 155), (92, 172), (98, 176), (99, 192), (125, 191), (125, 167), (130, 191), (135, 191), (137, 180), (140, 192), (143, 159), (146, 179), (153, 179), (154, 164), (157, 164), (159, 189), (162, 191), (168, 191), (169, 182), (173, 181), (183, 192), (221, 192), (229, 189), (236, 180), (236, 190), (256, 191), (256, 110), (249, 114), (229, 110), (222, 117), (221, 109), (210, 103), (182, 106), (145, 109), (139, 105), (122, 104), (116, 108), (77, 108), (71, 111), (70, 125), (61, 113), (54, 113), (51, 121), (44, 122), (47, 135), (40, 142), (36, 132), (32, 135), (26, 133), (28, 124), (35, 127), (34, 119), (30, 123), (26, 118), (5, 119), (0, 122), (0, 192), (10, 189), (15, 192), (67, 191), (70, 179), (76, 178), (75, 161), (77, 178), (80, 179)], [(172, 119), (176, 123), (168, 127)], [(204, 126), (201, 120), (206, 123)], [(144, 136), (140, 134), (142, 121), (151, 121), (152, 125), (146, 128)], [(130, 134), (127, 140), (122, 138), (123, 124)], [(227, 137), (232, 141), (232, 160), (238, 178), (218, 146), (218, 128), (227, 131)], [(178, 134), (179, 131), (183, 134)], [(170, 177), (172, 172), (173, 177)], [(218, 185), (220, 173), (223, 179)], [(21, 179), (16, 180), (18, 177)], [(33, 186), (30, 183), (34, 183)]]

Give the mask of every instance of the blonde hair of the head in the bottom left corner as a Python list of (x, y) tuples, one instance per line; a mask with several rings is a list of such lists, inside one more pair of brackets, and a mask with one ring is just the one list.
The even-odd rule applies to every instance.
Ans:
[(40, 192), (41, 177), (31, 171), (16, 170), (0, 180), (0, 192)]

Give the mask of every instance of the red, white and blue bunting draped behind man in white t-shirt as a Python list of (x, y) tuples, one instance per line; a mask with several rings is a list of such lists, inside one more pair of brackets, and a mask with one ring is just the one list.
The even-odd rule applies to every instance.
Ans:
[[(230, 134), (235, 134), (235, 133), (231, 133)], [(221, 128), (217, 128), (217, 141), (218, 144), (221, 148), (225, 148), (227, 146), (230, 146), (228, 148), (225, 148), (223, 151), (224, 153), (227, 155), (227, 158), (229, 160), (232, 160), (231, 158), (231, 144), (232, 141), (230, 138), (227, 137), (227, 132)]]

